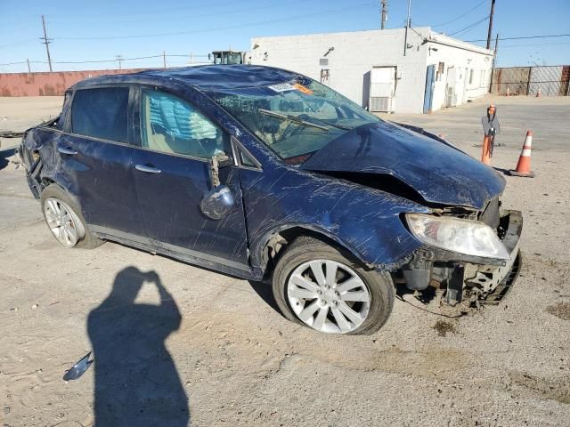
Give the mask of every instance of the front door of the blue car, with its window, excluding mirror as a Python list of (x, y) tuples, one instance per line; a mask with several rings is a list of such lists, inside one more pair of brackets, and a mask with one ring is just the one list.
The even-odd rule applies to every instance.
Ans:
[(212, 263), (249, 270), (237, 168), (220, 169), (220, 181), (235, 201), (232, 210), (214, 220), (200, 209), (212, 189), (208, 158), (232, 156), (229, 134), (174, 94), (142, 87), (138, 98), (141, 143), (134, 149), (134, 182), (147, 235), (161, 252), (214, 268)]

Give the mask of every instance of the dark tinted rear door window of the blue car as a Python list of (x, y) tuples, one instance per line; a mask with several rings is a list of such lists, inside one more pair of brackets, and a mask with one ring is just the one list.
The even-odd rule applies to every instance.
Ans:
[(128, 87), (79, 89), (71, 105), (71, 132), (127, 142)]

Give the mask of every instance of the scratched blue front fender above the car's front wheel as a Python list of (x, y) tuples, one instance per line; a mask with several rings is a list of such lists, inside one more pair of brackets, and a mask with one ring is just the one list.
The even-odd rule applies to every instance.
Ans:
[(291, 171), (241, 171), (250, 261), (265, 269), (265, 247), (282, 230), (311, 230), (346, 248), (370, 268), (395, 270), (421, 246), (400, 219), (429, 209), (352, 182)]

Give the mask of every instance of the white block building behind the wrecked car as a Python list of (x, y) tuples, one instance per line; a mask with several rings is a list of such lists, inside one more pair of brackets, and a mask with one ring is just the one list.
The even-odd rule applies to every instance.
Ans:
[(431, 31), (405, 28), (254, 37), (252, 64), (305, 74), (371, 111), (431, 112), (488, 92), (493, 52)]

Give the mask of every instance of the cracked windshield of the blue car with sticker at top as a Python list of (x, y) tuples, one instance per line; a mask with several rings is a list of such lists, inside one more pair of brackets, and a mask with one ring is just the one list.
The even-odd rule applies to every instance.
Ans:
[(310, 79), (210, 93), (289, 165), (300, 165), (330, 141), (380, 119)]

